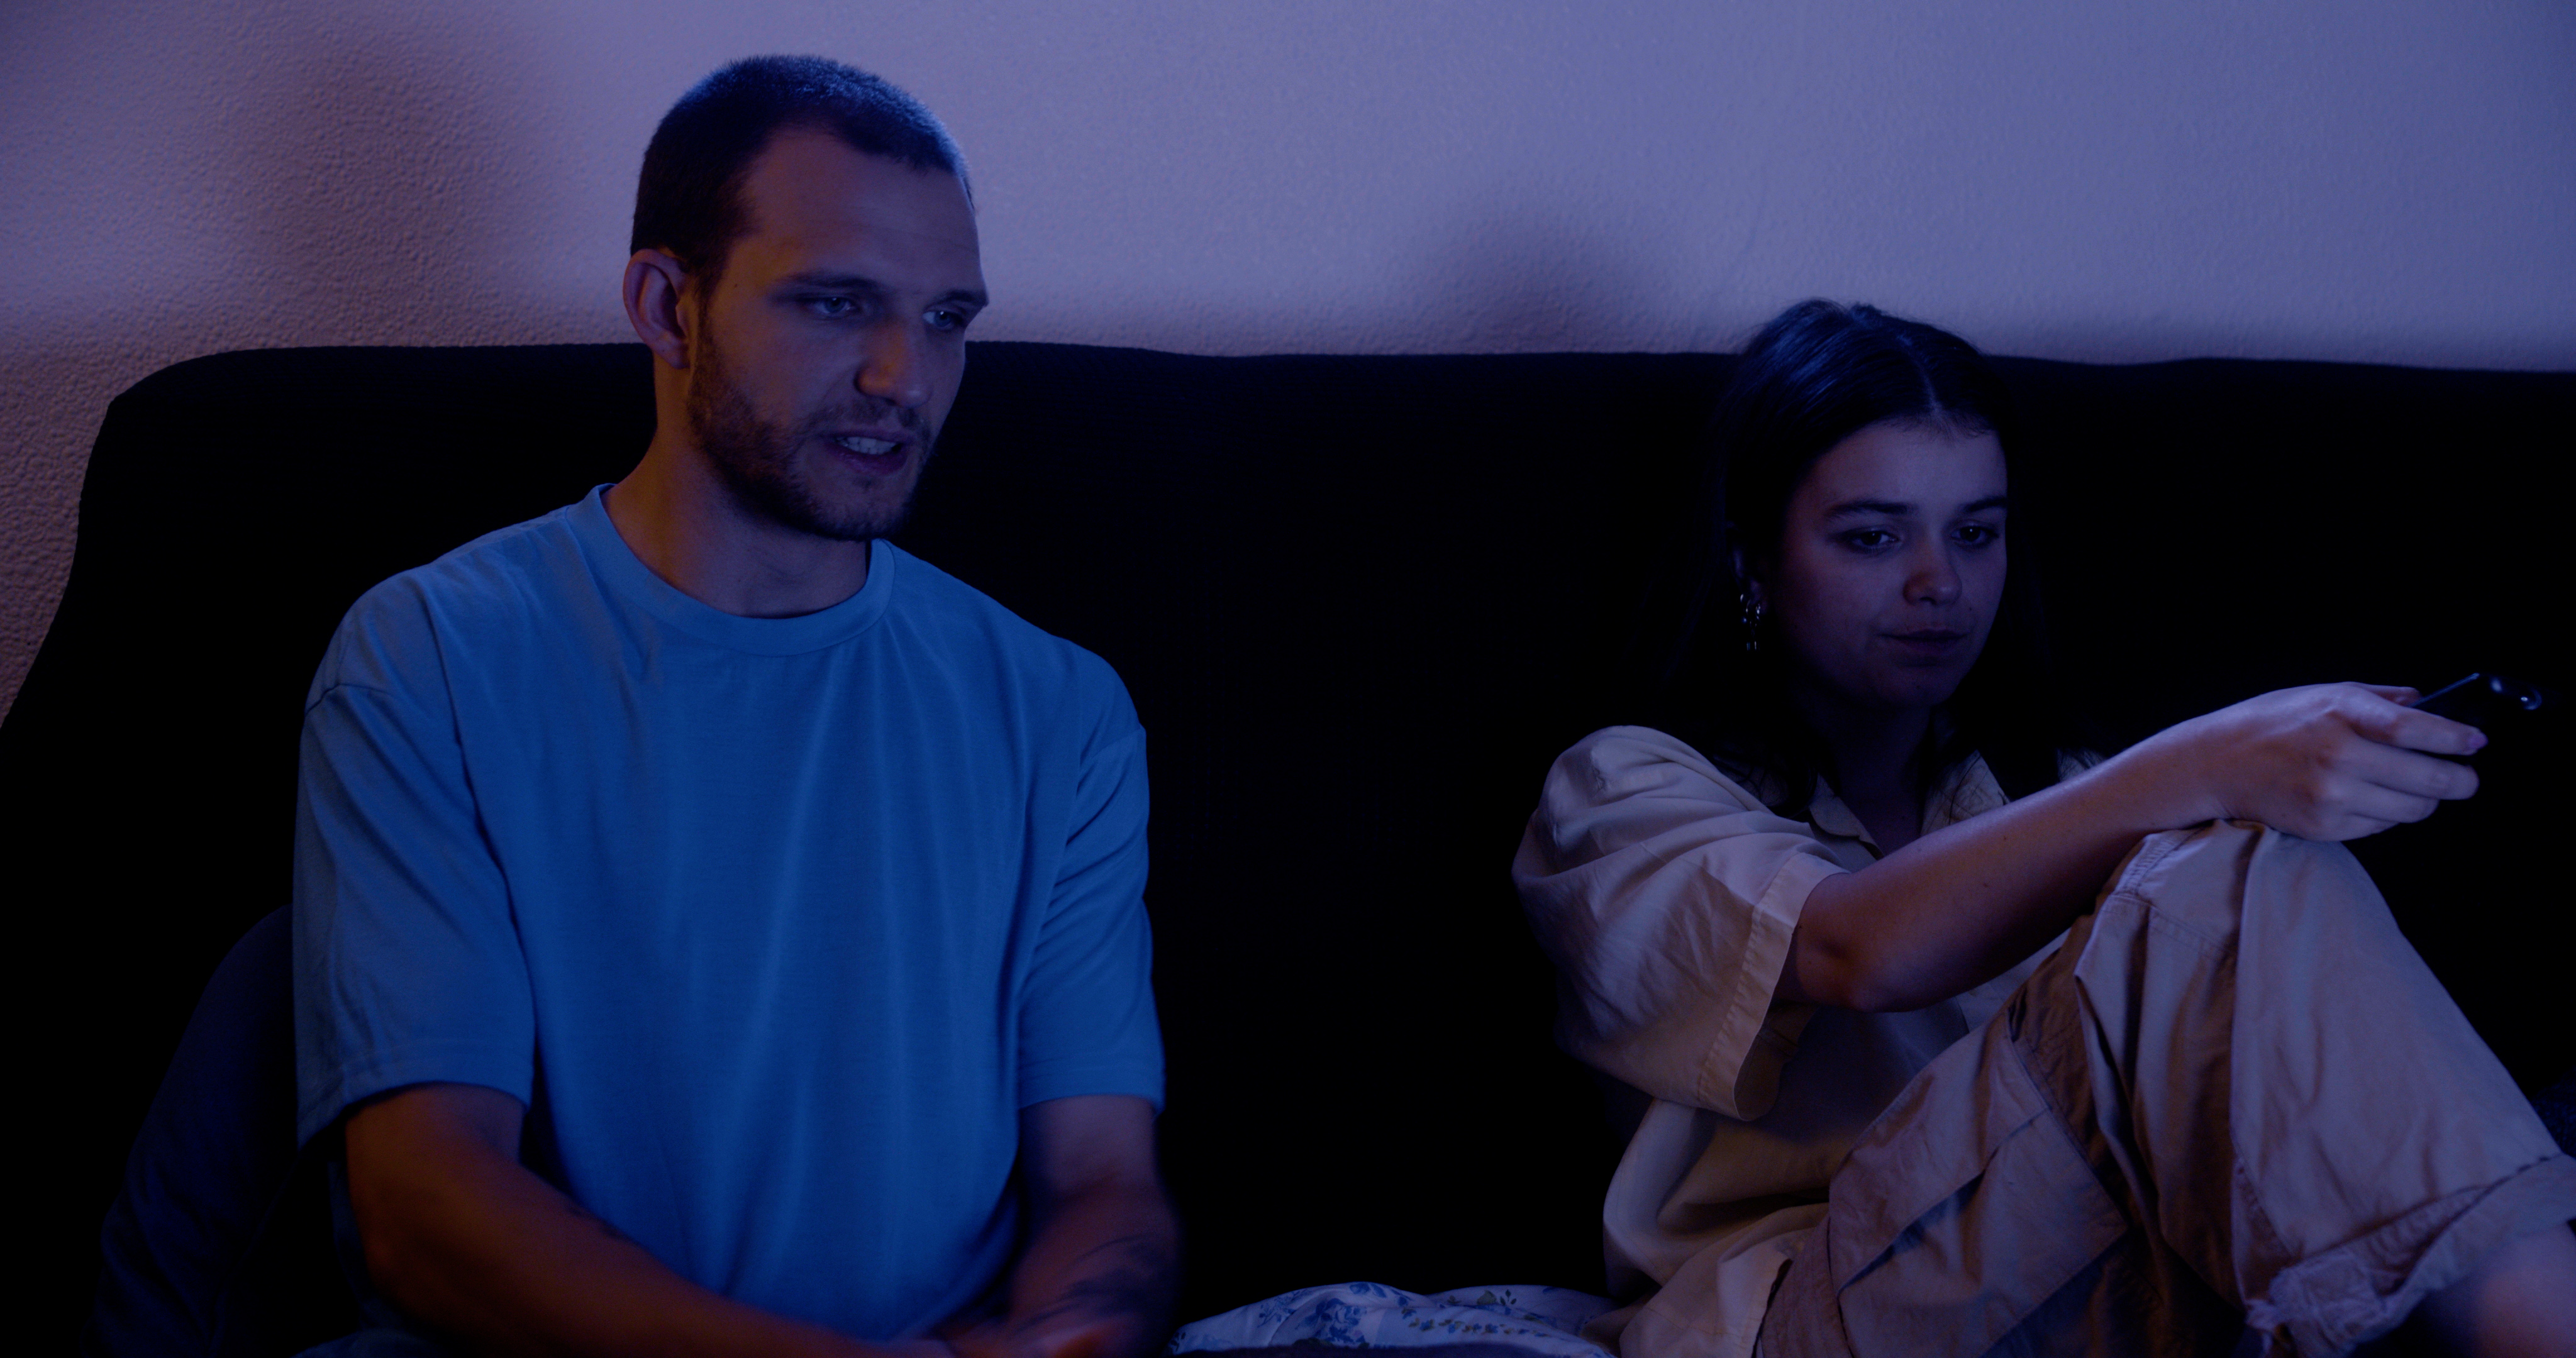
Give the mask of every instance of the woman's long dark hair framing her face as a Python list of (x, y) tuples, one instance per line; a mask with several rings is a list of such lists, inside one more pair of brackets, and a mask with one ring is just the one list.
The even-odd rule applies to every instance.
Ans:
[[(1994, 433), (2007, 484), (2022, 487), (2012, 472), (2020, 441), (2012, 397), (1968, 340), (1875, 307), (1801, 301), (1754, 335), (1718, 397), (1698, 513), (1667, 557), (1631, 647), (1633, 709), (1646, 724), (1749, 773), (1783, 814), (1806, 814), (1829, 760), (1788, 701), (1770, 626), (1759, 649), (1747, 647), (1734, 554), (1741, 549), (1744, 562), (1770, 569), (1788, 502), (1816, 459), (1886, 420)], [(1942, 714), (1917, 760), (1924, 794), (1981, 752), (2007, 794), (2027, 796), (2056, 783), (2061, 750), (2076, 747), (2048, 675), (2027, 554), (2009, 557), (1986, 649)]]

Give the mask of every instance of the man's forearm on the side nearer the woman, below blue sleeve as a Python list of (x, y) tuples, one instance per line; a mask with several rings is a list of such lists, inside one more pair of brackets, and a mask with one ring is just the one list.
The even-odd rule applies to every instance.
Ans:
[(961, 1358), (1139, 1358), (1162, 1345), (1180, 1229), (1154, 1172), (1141, 1098), (1056, 1098), (1020, 1111), (1028, 1250), (999, 1319), (953, 1327)]

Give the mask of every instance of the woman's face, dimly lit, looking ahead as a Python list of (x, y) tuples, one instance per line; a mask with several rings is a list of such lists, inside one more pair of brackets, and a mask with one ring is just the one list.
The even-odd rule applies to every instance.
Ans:
[(1942, 703), (2004, 600), (2004, 446), (1891, 420), (1834, 443), (1757, 577), (1793, 683), (1870, 714)]

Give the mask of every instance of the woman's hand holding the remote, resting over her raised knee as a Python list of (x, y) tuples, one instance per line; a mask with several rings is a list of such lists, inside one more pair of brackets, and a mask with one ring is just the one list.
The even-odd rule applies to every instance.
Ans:
[(2303, 840), (2357, 840), (2478, 791), (2468, 765), (2437, 755), (2470, 755), (2486, 734), (2403, 706), (2414, 698), (2370, 683), (2282, 688), (2128, 755), (2172, 807), (2159, 822), (2251, 819)]

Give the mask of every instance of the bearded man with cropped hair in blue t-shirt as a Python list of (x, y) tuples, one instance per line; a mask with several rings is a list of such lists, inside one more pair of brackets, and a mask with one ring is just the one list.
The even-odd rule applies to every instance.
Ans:
[(301, 1134), (366, 1270), (500, 1353), (1136, 1353), (1144, 732), (881, 533), (984, 307), (940, 124), (739, 62), (644, 155), (616, 487), (368, 593), (314, 678)]

